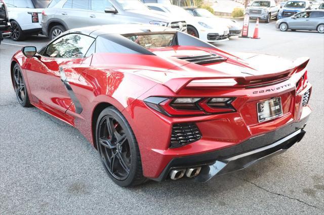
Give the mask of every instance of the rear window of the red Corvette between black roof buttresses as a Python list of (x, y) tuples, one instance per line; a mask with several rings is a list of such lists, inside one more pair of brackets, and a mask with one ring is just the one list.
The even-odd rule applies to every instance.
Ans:
[(154, 49), (161, 47), (170, 47), (174, 38), (174, 33), (163, 34), (134, 34), (125, 37), (136, 42), (145, 49)]

